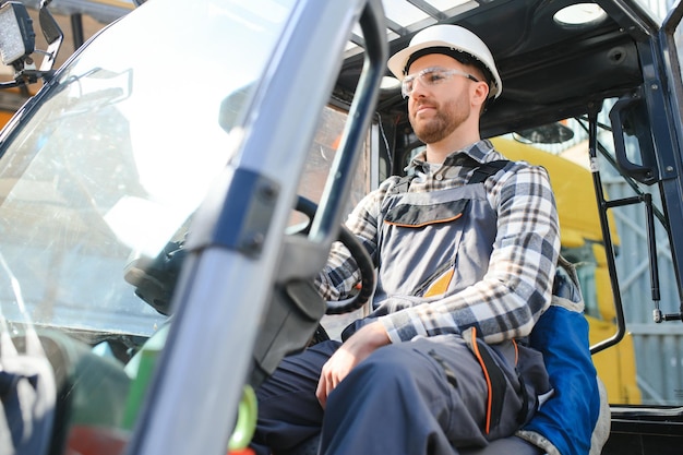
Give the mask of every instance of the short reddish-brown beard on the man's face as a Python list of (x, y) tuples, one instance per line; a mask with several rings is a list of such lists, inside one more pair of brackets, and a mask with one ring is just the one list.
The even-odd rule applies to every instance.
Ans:
[(429, 101), (429, 105), (435, 107), (431, 118), (418, 119), (412, 112), (408, 116), (412, 131), (426, 144), (443, 141), (457, 130), (470, 115), (469, 105), (458, 103), (456, 99), (451, 99), (443, 105)]

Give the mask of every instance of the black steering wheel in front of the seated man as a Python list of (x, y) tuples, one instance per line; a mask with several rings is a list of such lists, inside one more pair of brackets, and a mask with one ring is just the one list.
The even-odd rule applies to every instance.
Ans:
[[(301, 212), (309, 218), (309, 224), (307, 228), (301, 230), (300, 234), (303, 234), (310, 227), (310, 221), (315, 216), (315, 212), (317, 211), (317, 205), (303, 196), (298, 196), (297, 199), (297, 212)], [(343, 314), (350, 313), (351, 311), (358, 310), (361, 308), (368, 299), (374, 292), (375, 279), (374, 279), (374, 265), (372, 263), (372, 259), (368, 251), (362, 246), (358, 237), (351, 234), (344, 225), (342, 225), (339, 229), (339, 238), (338, 240), (349, 250), (351, 253), (351, 258), (356, 261), (358, 265), (358, 270), (360, 271), (361, 282), (359, 291), (354, 295), (350, 299), (343, 301), (327, 301), (327, 311), (326, 314)]]

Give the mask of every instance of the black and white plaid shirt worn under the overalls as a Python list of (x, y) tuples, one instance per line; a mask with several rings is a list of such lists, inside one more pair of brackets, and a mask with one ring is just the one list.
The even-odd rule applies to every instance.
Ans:
[[(474, 171), (472, 158), (477, 163), (505, 159), (486, 140), (451, 154), (433, 172), (421, 154), (412, 163), (418, 178), (408, 191), (429, 192), (466, 184)], [(398, 180), (396, 176), (385, 180), (358, 204), (346, 221), (375, 264), (380, 258), (380, 208)], [(531, 332), (550, 304), (560, 253), (560, 227), (547, 171), (536, 166), (515, 166), (487, 179), (484, 189), (498, 214), (498, 231), (486, 276), (446, 297), (393, 295), (373, 302), (374, 308), (381, 303), (392, 309), (378, 319), (393, 343), (417, 335), (458, 334), (470, 326), (476, 326), (488, 343), (519, 338)], [(410, 254), (409, 244), (405, 251)], [(391, 266), (379, 264), (380, 268)], [(381, 273), (391, 273), (391, 268)], [(338, 300), (348, 296), (359, 279), (356, 262), (344, 247), (335, 243), (327, 266), (316, 280), (319, 291), (327, 300)]]

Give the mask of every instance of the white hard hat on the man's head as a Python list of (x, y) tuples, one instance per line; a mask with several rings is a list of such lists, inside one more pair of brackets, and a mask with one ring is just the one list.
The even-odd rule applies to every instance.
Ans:
[[(418, 32), (410, 40), (410, 45), (407, 48), (399, 50), (388, 59), (388, 69), (399, 81), (403, 81), (408, 71), (408, 67), (415, 60), (411, 59), (411, 57), (416, 56), (418, 52), (419, 56), (431, 53), (428, 49), (432, 48), (434, 53), (450, 55), (456, 60), (460, 60), (458, 52), (474, 57), (475, 60), (481, 63), (481, 65), (491, 73), (492, 86), (489, 88), (489, 98), (498, 98), (501, 95), (503, 83), (495, 68), (491, 51), (477, 35), (459, 25), (433, 25)], [(423, 52), (420, 52), (422, 50)]]

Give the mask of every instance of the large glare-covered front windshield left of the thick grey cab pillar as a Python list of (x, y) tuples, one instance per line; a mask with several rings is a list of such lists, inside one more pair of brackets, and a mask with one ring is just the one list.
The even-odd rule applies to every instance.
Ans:
[[(149, 2), (92, 41), (4, 137), (2, 351), (10, 336), (21, 351), (38, 328), (57, 372), (56, 411), (69, 411), (55, 419), (64, 453), (125, 443), (120, 430), (132, 428), (164, 345), (179, 246), (239, 151), (253, 87), (295, 3)], [(190, 23), (202, 24), (191, 40)], [(183, 60), (211, 62), (216, 83), (168, 76)]]

